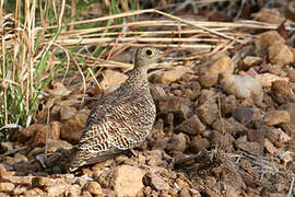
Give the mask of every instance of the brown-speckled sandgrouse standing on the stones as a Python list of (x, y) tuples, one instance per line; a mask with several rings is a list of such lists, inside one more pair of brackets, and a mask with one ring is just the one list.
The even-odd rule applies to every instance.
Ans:
[(156, 108), (150, 93), (148, 69), (161, 50), (138, 48), (134, 68), (128, 80), (92, 108), (69, 171), (103, 161), (108, 155), (131, 149), (152, 130)]

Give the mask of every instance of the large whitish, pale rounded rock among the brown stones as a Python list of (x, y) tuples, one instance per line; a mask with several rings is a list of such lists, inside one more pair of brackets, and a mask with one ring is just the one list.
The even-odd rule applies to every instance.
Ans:
[(263, 91), (261, 83), (252, 77), (246, 76), (232, 76), (227, 77), (221, 74), (221, 84), (227, 94), (233, 94), (238, 99), (248, 99), (253, 102), (261, 103), (263, 99)]

